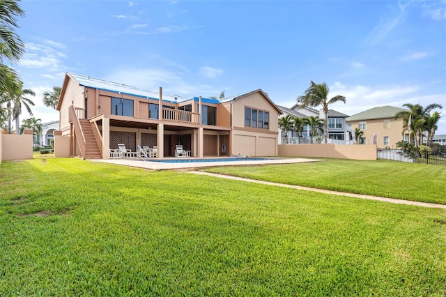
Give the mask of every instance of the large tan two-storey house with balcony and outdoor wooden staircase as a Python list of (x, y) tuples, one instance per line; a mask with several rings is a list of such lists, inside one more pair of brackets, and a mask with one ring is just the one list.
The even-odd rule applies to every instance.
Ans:
[(67, 73), (56, 107), (70, 155), (109, 158), (125, 144), (157, 146), (159, 158), (177, 144), (191, 156), (277, 155), (280, 109), (261, 89), (222, 100), (178, 98)]

